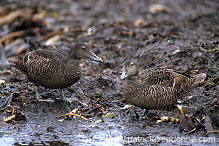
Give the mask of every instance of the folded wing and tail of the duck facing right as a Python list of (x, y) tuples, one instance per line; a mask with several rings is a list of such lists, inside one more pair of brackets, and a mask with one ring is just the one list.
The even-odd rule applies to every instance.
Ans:
[(63, 67), (63, 61), (63, 57), (58, 52), (45, 49), (37, 49), (9, 60), (16, 68), (23, 71), (32, 82), (36, 78), (49, 79), (54, 76)]

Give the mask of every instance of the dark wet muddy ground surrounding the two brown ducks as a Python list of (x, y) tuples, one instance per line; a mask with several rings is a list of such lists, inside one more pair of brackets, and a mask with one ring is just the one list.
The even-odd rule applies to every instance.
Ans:
[[(45, 0), (39, 1), (38, 4), (37, 1), (3, 0), (0, 3), (0, 14), (2, 12), (0, 17), (4, 13), (9, 14), (19, 9), (35, 8), (37, 13), (44, 14), (43, 20), (51, 24), (51, 29), (47, 31), (68, 26), (69, 32), (56, 43), (60, 49), (66, 49), (75, 43), (86, 43), (104, 60), (104, 63), (81, 60), (83, 77), (78, 83), (64, 90), (65, 97), (71, 103), (59, 100), (59, 90), (43, 87), (40, 95), (44, 99), (52, 98), (55, 102), (34, 101), (35, 86), (28, 82), (20, 71), (8, 65), (2, 66), (1, 101), (10, 96), (13, 96), (13, 100), (11, 106), (0, 114), (0, 118), (9, 117), (10, 114), (6, 111), (11, 108), (18, 108), (17, 110), (24, 116), (7, 123), (3, 123), (2, 120), (1, 144), (216, 145), (218, 143), (219, 2), (217, 0)], [(155, 9), (153, 4), (165, 7)], [(18, 19), (0, 25), (0, 37), (8, 32), (45, 27), (41, 23), (33, 26), (32, 21), (24, 25)], [(14, 40), (23, 40), (26, 37), (39, 39), (46, 34), (28, 32), (25, 36)], [(0, 47), (6, 54), (6, 57), (1, 54), (3, 56), (1, 63), (5, 61), (4, 58), (30, 51), (30, 48), (26, 47), (19, 52), (19, 45), (11, 49), (7, 49), (5, 44)], [(121, 64), (133, 58), (139, 60), (141, 68), (168, 67), (188, 72), (198, 70), (207, 74), (202, 87), (180, 100), (180, 105), (188, 108), (187, 116), (192, 123), (157, 123), (156, 117), (182, 118), (176, 106), (167, 110), (150, 110), (149, 113), (152, 115), (148, 116), (138, 107), (123, 109), (129, 104), (123, 100), (120, 91)], [(61, 116), (72, 110), (79, 111), (80, 113), (77, 113), (86, 117), (88, 121), (75, 116)]]

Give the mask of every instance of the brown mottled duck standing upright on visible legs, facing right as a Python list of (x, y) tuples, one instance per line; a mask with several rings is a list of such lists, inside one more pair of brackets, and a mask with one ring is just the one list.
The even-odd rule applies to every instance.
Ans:
[(63, 99), (63, 88), (70, 87), (81, 77), (80, 59), (103, 61), (85, 44), (76, 44), (69, 52), (55, 47), (40, 48), (8, 61), (37, 86), (36, 97), (39, 100), (39, 86), (61, 89)]

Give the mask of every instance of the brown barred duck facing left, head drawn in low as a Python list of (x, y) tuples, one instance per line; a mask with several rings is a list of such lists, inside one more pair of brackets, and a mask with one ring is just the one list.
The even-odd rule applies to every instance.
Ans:
[(198, 87), (206, 74), (185, 75), (173, 69), (151, 68), (139, 71), (137, 60), (123, 64), (125, 79), (123, 96), (131, 104), (144, 109), (162, 109)]

